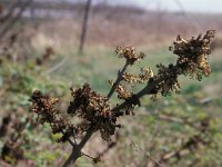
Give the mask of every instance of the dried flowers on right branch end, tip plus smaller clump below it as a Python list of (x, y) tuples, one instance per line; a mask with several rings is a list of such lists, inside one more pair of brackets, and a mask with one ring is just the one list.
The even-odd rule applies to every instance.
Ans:
[(153, 99), (157, 95), (168, 96), (172, 91), (180, 91), (180, 84), (178, 77), (180, 75), (190, 76), (199, 81), (202, 76), (210, 76), (211, 68), (208, 62), (208, 56), (211, 53), (210, 43), (214, 37), (215, 31), (209, 30), (206, 35), (198, 38), (192, 38), (185, 40), (178, 36), (176, 41), (170, 47), (170, 50), (174, 55), (178, 55), (176, 65), (169, 65), (165, 67), (162, 63), (157, 65), (158, 73), (153, 77), (157, 81), (157, 86), (153, 88), (152, 92)]

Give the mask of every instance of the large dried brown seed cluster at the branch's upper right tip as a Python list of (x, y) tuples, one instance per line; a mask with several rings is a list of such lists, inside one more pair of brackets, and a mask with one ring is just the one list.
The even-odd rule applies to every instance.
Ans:
[(190, 40), (178, 36), (170, 50), (179, 56), (176, 65), (183, 75), (189, 75), (198, 80), (201, 80), (202, 76), (210, 76), (211, 68), (208, 56), (211, 53), (211, 41), (214, 33), (214, 30), (208, 30), (205, 36), (200, 35)]

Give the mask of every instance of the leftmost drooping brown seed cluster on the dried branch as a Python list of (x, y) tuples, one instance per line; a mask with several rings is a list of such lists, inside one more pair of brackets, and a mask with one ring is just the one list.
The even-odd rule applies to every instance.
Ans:
[(57, 108), (58, 99), (50, 98), (41, 91), (36, 90), (30, 99), (32, 102), (31, 111), (38, 115), (38, 122), (48, 122), (53, 134), (62, 134), (58, 141), (67, 141), (74, 132), (74, 126), (67, 119), (61, 118), (60, 110)]

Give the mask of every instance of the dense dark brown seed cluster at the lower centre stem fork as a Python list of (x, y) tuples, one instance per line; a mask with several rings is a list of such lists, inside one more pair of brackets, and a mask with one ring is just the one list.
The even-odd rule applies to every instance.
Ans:
[(88, 84), (84, 84), (80, 89), (71, 89), (73, 100), (70, 102), (68, 114), (77, 115), (82, 118), (84, 124), (80, 128), (87, 131), (93, 128), (99, 130), (101, 137), (105, 140), (114, 134), (117, 117), (111, 111), (109, 99), (93, 91)]

